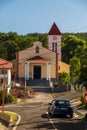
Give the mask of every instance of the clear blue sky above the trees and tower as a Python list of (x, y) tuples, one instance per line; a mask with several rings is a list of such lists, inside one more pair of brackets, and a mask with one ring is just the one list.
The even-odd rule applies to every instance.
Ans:
[(87, 32), (87, 0), (0, 0), (0, 32)]

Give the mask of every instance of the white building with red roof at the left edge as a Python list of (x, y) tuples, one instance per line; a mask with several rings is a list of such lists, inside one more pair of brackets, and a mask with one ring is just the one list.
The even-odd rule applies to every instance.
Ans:
[(0, 84), (5, 79), (6, 84), (11, 85), (11, 69), (12, 63), (0, 58)]

